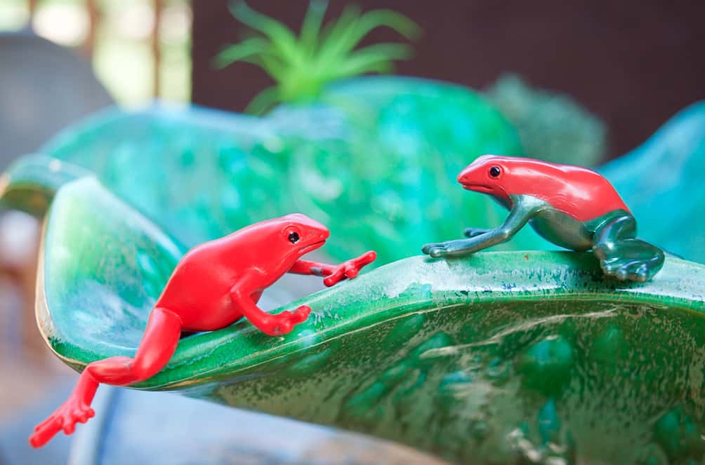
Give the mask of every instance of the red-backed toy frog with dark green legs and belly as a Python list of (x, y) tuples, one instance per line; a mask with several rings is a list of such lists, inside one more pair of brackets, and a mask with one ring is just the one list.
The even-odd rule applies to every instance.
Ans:
[(618, 279), (645, 281), (663, 266), (661, 249), (636, 238), (635, 218), (614, 187), (587, 168), (484, 155), (458, 175), (458, 182), (491, 195), (509, 216), (498, 228), (467, 228), (468, 239), (426, 244), (425, 254), (477, 252), (509, 240), (529, 223), (561, 247), (592, 249), (604, 273)]

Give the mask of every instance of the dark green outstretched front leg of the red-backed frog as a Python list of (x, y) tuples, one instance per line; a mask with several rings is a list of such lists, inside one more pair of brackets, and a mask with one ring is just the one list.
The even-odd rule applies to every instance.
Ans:
[[(507, 219), (498, 228), (479, 231), (468, 239), (434, 242), (422, 247), (422, 252), (434, 258), (440, 256), (465, 255), (492, 247), (510, 240), (533, 216), (541, 211), (546, 204), (536, 197), (513, 196), (513, 207)], [(476, 228), (470, 228), (474, 233)]]

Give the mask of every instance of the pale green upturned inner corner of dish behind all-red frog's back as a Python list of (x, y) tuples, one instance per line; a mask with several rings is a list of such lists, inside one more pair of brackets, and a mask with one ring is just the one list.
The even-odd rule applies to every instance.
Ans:
[[(78, 344), (100, 357), (99, 344), (130, 353), (130, 341), (141, 337), (142, 316), (186, 250), (94, 177), (69, 182), (51, 204), (42, 239), (42, 335), (58, 352)], [(98, 333), (99, 340), (91, 339)], [(80, 366), (78, 359), (66, 361)]]

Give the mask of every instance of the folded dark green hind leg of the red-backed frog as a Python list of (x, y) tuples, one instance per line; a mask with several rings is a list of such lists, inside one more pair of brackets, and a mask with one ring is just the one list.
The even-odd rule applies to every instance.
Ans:
[(606, 275), (644, 282), (658, 273), (663, 266), (663, 251), (636, 235), (637, 222), (626, 212), (597, 228), (592, 249)]

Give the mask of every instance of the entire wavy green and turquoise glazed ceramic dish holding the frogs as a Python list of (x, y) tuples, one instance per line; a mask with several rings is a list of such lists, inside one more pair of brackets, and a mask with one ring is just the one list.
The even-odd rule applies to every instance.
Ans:
[[(694, 260), (702, 114), (691, 107), (602, 171), (640, 237)], [(2, 200), (37, 216), (49, 208), (37, 316), (73, 368), (133, 354), (188, 247), (300, 211), (329, 225), (326, 252), (338, 259), (370, 248), (380, 264), (411, 257), (289, 304), (313, 314), (286, 337), (246, 321), (185, 337), (138, 387), (462, 463), (701, 461), (704, 266), (668, 258), (653, 281), (618, 283), (591, 254), (537, 251), (552, 247), (529, 228), (505, 247), (532, 252), (412, 256), (465, 226), (501, 223), (503, 209), (453, 180), (474, 156), (519, 151), (501, 115), (466, 89), (364, 78), (266, 118), (99, 114), (18, 161)], [(649, 209), (658, 198), (663, 208)]]

